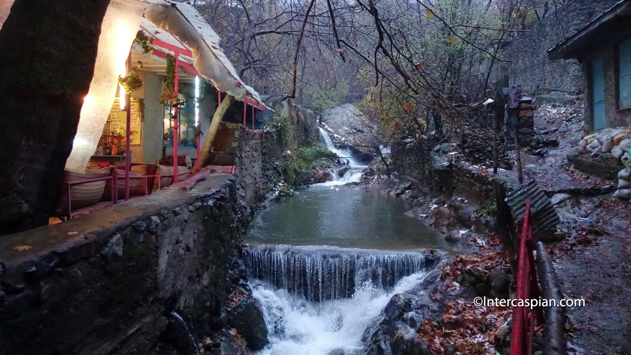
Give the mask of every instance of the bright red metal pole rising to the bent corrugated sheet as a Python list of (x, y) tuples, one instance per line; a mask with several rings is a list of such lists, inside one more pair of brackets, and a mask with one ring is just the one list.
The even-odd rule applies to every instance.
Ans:
[[(528, 239), (528, 226), (530, 222), (530, 200), (526, 202), (524, 211), (524, 224), (521, 227), (521, 241), (519, 246), (519, 260), (517, 267), (517, 294), (516, 299), (526, 298), (528, 282), (528, 256), (526, 256), (526, 239)], [(512, 335), (510, 337), (510, 355), (521, 355), (524, 339), (524, 313), (525, 307), (513, 309)]]

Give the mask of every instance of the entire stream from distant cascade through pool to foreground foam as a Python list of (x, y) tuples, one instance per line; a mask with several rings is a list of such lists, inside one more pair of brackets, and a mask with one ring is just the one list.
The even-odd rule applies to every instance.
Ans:
[[(329, 149), (351, 157), (321, 134)], [(362, 165), (348, 160), (344, 176), (274, 203), (244, 236), (249, 285), (269, 330), (256, 354), (361, 352), (362, 335), (392, 296), (418, 285), (451, 252), (404, 214), (401, 200), (343, 186), (361, 176)]]

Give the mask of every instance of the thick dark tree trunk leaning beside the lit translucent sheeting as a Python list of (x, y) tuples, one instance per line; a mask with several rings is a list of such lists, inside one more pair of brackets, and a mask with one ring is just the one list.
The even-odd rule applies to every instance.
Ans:
[(48, 223), (109, 0), (16, 0), (0, 30), (0, 235)]

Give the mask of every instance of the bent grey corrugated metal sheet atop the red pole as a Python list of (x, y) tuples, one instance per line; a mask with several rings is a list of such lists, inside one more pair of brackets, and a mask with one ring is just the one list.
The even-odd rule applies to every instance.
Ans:
[(535, 181), (519, 186), (519, 188), (506, 194), (506, 203), (510, 207), (517, 226), (521, 226), (521, 222), (524, 220), (528, 200), (530, 200), (531, 220), (533, 221), (533, 238), (538, 238), (542, 233), (553, 233), (561, 220), (550, 199)]

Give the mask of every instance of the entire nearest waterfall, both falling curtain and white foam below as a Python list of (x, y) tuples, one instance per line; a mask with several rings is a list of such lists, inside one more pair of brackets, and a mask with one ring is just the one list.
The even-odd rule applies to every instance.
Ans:
[[(269, 344), (261, 355), (356, 354), (394, 294), (435, 267), (435, 251), (261, 245), (245, 250)], [(332, 352), (333, 351), (333, 352)]]

